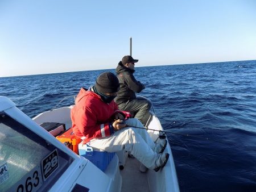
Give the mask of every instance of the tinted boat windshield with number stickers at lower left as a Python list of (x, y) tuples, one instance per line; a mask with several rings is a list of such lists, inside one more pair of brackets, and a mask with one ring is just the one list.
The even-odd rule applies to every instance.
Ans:
[(47, 191), (72, 161), (55, 145), (0, 114), (1, 191)]

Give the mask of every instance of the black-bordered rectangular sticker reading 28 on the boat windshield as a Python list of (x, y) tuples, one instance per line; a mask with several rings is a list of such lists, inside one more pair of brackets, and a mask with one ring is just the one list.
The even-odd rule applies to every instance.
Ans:
[(59, 157), (57, 149), (51, 152), (42, 160), (42, 174), (44, 181), (59, 167)]

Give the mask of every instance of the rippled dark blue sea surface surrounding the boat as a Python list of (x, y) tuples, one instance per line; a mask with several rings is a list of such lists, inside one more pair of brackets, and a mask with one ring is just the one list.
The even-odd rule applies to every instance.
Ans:
[[(135, 70), (146, 85), (138, 95), (151, 100), (168, 131), (180, 191), (255, 192), (256, 61)], [(4, 77), (0, 95), (32, 118), (105, 71), (114, 69)]]

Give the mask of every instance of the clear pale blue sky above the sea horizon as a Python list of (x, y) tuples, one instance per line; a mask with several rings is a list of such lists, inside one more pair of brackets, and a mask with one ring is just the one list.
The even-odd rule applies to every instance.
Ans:
[(256, 59), (256, 1), (0, 0), (0, 77)]

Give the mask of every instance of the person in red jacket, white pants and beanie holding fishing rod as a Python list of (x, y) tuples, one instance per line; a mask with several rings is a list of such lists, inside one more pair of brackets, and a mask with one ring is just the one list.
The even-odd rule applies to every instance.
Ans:
[(113, 101), (118, 89), (118, 78), (110, 72), (100, 74), (89, 90), (81, 88), (71, 110), (73, 131), (93, 148), (128, 151), (157, 172), (168, 161), (169, 154), (163, 153), (167, 141), (155, 144), (146, 130), (134, 128), (143, 127), (138, 119), (123, 120), (123, 113)]

